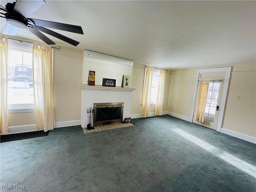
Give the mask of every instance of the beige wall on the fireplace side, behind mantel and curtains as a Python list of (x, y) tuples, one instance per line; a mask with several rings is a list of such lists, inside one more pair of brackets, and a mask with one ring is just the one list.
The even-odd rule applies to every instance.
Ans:
[[(82, 93), (78, 84), (82, 84), (83, 50), (62, 47), (54, 51), (53, 93), (56, 122), (81, 119)], [(134, 63), (131, 87), (131, 114), (141, 114), (141, 100), (144, 83), (145, 65)], [(168, 111), (171, 71), (166, 74), (163, 111)], [(155, 106), (150, 106), (154, 112)], [(10, 113), (9, 126), (36, 124), (34, 112)]]

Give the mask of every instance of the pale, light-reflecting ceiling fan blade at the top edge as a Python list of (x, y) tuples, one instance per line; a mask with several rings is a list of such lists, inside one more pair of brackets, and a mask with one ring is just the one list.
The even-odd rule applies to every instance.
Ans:
[(38, 8), (40, 8), (44, 3), (44, 0), (16, 0), (14, 11), (18, 12), (25, 18), (28, 18), (28, 16), (38, 10)]

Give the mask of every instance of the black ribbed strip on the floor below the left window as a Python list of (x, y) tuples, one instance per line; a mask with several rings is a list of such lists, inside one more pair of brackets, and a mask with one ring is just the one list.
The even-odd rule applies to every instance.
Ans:
[(49, 131), (34, 131), (34, 132), (27, 132), (27, 133), (17, 133), (17, 134), (10, 134), (10, 135), (1, 135), (0, 136), (0, 142), (9, 142), (9, 141), (16, 141), (16, 140), (22, 140), (22, 139), (30, 139), (30, 138), (36, 138), (36, 137), (44, 137), (48, 136)]

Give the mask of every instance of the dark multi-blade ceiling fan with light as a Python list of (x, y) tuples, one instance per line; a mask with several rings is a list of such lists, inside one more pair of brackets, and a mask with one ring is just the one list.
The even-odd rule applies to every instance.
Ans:
[(73, 39), (70, 39), (66, 36), (63, 36), (59, 33), (56, 33), (52, 30), (49, 30), (48, 28), (64, 30), (68, 32), (78, 33), (78, 34), (84, 34), (81, 26), (28, 18), (44, 3), (45, 3), (44, 0), (36, 0), (36, 1), (16, 0), (16, 2), (7, 3), (5, 5), (5, 8), (1, 6), (0, 16), (2, 18), (6, 18), (6, 22), (7, 22), (2, 34), (14, 36), (16, 35), (18, 28), (22, 28), (22, 29), (29, 30), (30, 32), (32, 32), (34, 35), (36, 35), (38, 38), (43, 40), (48, 45), (52, 45), (55, 43), (52, 40), (50, 40), (48, 37), (46, 37), (44, 34), (42, 34), (41, 32), (44, 32), (62, 41), (65, 41), (69, 44), (77, 46), (79, 42)]

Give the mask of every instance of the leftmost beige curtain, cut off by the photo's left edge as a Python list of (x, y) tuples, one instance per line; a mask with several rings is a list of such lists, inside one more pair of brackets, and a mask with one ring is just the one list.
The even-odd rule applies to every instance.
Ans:
[(0, 37), (0, 133), (9, 132), (8, 123), (8, 38)]

